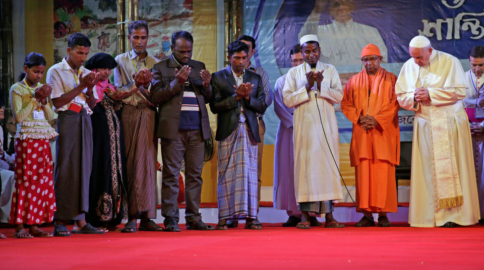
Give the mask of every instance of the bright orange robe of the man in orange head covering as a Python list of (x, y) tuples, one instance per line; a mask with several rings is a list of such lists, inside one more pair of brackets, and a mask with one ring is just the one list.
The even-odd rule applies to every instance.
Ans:
[[(355, 170), (356, 204), (363, 211), (397, 212), (395, 165), (400, 160), (400, 107), (396, 80), (393, 73), (380, 67), (374, 76), (363, 70), (351, 77), (344, 89), (341, 109), (353, 122), (349, 155)], [(367, 114), (378, 121), (377, 127), (361, 128), (358, 118)]]

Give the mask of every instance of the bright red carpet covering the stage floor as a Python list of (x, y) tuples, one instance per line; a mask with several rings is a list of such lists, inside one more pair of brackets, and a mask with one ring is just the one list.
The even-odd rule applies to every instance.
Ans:
[[(243, 224), (242, 224), (243, 225)], [(14, 239), (0, 229), (1, 269), (482, 269), (484, 226), (73, 235)], [(400, 225), (400, 226), (398, 226)], [(240, 224), (239, 224), (240, 226)], [(48, 227), (47, 229), (51, 229)]]

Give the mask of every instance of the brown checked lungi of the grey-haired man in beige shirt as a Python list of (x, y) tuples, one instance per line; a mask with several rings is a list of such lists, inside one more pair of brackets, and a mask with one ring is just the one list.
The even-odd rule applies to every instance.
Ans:
[(145, 100), (133, 106), (125, 104), (121, 122), (127, 156), (128, 214), (156, 218), (156, 110)]

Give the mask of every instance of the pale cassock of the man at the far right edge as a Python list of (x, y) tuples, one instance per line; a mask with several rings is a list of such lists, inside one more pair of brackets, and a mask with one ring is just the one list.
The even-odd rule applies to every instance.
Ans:
[[(477, 78), (471, 70), (465, 73), (465, 82), (467, 84), (467, 93), (465, 96), (464, 106), (466, 108), (474, 108), (477, 99), (477, 89), (484, 84), (484, 76)], [(484, 89), (481, 89), (479, 96), (484, 95)], [(478, 120), (478, 119), (477, 119)], [(472, 125), (484, 126), (484, 121), (470, 122)], [(476, 134), (472, 136), (472, 150), (474, 154), (475, 175), (477, 177), (477, 193), (479, 195), (480, 218), (484, 217), (484, 171), (482, 171), (482, 163), (484, 159), (484, 134)]]

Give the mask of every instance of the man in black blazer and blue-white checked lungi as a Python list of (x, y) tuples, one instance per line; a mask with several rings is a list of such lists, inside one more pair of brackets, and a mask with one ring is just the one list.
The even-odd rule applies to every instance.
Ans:
[(227, 220), (246, 220), (246, 229), (260, 230), (257, 222), (257, 143), (261, 142), (256, 113), (267, 108), (259, 75), (245, 69), (249, 46), (228, 45), (230, 65), (212, 74), (210, 109), (217, 114), (218, 219), (217, 230), (227, 230)]

